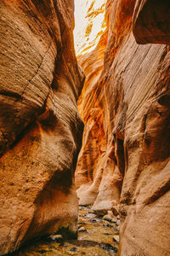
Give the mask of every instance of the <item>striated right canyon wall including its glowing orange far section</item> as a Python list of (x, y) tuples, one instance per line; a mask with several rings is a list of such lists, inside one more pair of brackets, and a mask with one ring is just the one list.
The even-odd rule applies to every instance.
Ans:
[(122, 256), (161, 256), (170, 253), (170, 49), (136, 43), (133, 32), (141, 44), (169, 41), (160, 39), (166, 30), (157, 38), (156, 17), (151, 38), (139, 37), (141, 20), (149, 17), (144, 9), (135, 16), (135, 2), (108, 1), (106, 46), (100, 41), (102, 48), (80, 56), (87, 79), (79, 101), (85, 130), (77, 193), (95, 210), (119, 207)]

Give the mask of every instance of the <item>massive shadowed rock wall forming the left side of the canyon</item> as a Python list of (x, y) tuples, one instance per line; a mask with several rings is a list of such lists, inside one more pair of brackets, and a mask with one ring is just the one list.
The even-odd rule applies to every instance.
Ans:
[(73, 1), (0, 1), (0, 254), (77, 236), (82, 143)]

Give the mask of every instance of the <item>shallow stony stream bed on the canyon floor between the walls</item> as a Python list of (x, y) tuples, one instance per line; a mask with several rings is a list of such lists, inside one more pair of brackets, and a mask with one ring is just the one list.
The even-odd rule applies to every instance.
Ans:
[(10, 256), (117, 255), (119, 216), (99, 216), (91, 207), (79, 207), (78, 239), (63, 241), (60, 235), (49, 236), (21, 247)]

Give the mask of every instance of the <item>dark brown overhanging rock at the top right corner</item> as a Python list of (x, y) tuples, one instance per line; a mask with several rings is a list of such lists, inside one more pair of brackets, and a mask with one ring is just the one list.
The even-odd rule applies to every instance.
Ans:
[(134, 37), (139, 44), (169, 44), (169, 0), (138, 0), (133, 15)]

